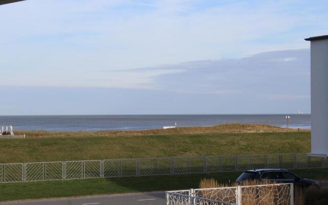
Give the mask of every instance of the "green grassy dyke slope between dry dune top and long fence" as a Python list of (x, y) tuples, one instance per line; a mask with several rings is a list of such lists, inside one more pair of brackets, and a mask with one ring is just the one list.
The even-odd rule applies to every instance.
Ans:
[(310, 132), (0, 139), (0, 163), (310, 152)]

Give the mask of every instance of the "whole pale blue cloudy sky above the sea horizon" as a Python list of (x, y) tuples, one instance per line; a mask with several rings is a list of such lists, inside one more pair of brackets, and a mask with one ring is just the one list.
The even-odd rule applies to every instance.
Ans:
[(0, 6), (0, 115), (310, 113), (327, 1)]

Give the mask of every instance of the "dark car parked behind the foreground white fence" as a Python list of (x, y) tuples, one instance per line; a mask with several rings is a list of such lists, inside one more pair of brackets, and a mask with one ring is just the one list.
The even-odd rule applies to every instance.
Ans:
[(245, 180), (269, 180), (277, 183), (294, 183), (295, 186), (308, 187), (311, 185), (318, 187), (318, 182), (311, 179), (302, 179), (296, 174), (284, 169), (255, 169), (243, 172), (237, 182)]

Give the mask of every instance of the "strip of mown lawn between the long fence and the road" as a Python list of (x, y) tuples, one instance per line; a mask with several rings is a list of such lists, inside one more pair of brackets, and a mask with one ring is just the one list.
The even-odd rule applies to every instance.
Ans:
[[(306, 177), (316, 180), (328, 179), (328, 169), (292, 171), (303, 178)], [(226, 172), (175, 176), (3, 183), (0, 184), (0, 201), (191, 189), (198, 188), (198, 184), (202, 178), (214, 178), (220, 183), (229, 183), (229, 181), (235, 181), (239, 175), (240, 172)]]

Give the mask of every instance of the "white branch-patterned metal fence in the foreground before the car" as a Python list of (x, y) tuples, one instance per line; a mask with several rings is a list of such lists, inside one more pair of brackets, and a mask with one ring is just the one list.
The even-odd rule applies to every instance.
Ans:
[(293, 205), (293, 183), (166, 192), (167, 205)]

